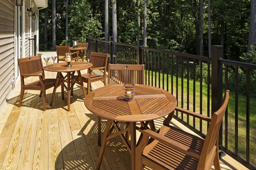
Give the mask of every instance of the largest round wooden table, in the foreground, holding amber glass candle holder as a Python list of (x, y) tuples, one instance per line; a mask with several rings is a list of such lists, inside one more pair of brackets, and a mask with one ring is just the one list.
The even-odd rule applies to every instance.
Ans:
[[(124, 100), (123, 85), (106, 85), (96, 89), (84, 99), (89, 111), (108, 119), (102, 140), (97, 170), (100, 168), (107, 140), (120, 136), (131, 153), (131, 169), (136, 165), (136, 122), (149, 122), (172, 113), (177, 105), (175, 97), (160, 88), (148, 85), (135, 85), (134, 99)], [(117, 122), (128, 122), (128, 127), (121, 130)], [(113, 127), (112, 127), (113, 126)], [(112, 134), (112, 130), (117, 132)], [(122, 134), (130, 131), (131, 143)]]

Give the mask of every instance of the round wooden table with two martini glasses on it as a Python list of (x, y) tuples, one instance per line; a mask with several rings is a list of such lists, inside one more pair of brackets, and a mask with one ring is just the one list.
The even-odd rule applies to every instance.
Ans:
[[(84, 90), (84, 84), (82, 82), (81, 78), (81, 70), (90, 68), (93, 66), (90, 62), (70, 62), (72, 65), (71, 67), (67, 67), (67, 62), (58, 62), (55, 64), (51, 64), (48, 66), (44, 66), (44, 70), (46, 71), (53, 71), (57, 72), (57, 77), (55, 81), (55, 85), (52, 92), (52, 99), (50, 102), (50, 106), (52, 106), (52, 102), (55, 96), (56, 88), (58, 88), (61, 85), (61, 96), (64, 100), (64, 91), (63, 88), (66, 88), (67, 90), (67, 111), (70, 111), (70, 94), (71, 94), (71, 88), (73, 88), (73, 85), (75, 83), (81, 85), (84, 97), (86, 96), (85, 90)], [(67, 75), (64, 77), (62, 75), (62, 72), (67, 73)], [(74, 76), (74, 73), (77, 72), (77, 76)], [(64, 82), (67, 82), (67, 86), (64, 84)]]

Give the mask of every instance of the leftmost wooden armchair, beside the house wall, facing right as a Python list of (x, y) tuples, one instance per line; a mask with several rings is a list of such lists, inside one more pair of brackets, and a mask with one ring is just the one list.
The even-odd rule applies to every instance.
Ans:
[[(56, 79), (45, 79), (43, 63), (40, 56), (26, 57), (18, 59), (18, 65), (20, 68), (20, 101), (18, 107), (20, 107), (24, 91), (25, 90), (40, 90), (39, 97), (43, 94), (43, 111), (46, 110), (46, 90), (53, 87)], [(30, 82), (25, 85), (24, 79), (27, 77), (39, 77), (38, 81)]]

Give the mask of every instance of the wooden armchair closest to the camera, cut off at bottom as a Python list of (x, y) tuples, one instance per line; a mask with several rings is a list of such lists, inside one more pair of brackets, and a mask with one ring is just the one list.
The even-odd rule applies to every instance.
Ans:
[[(218, 136), (228, 100), (227, 90), (221, 107), (213, 113), (212, 118), (176, 108), (176, 111), (210, 122), (205, 139), (169, 126), (174, 112), (167, 117), (159, 133), (140, 128), (143, 137), (137, 147), (136, 158), (141, 160), (141, 164), (137, 164), (136, 170), (141, 170), (143, 164), (154, 170), (210, 170), (212, 163), (215, 170), (221, 170)], [(154, 140), (148, 143), (149, 136)]]

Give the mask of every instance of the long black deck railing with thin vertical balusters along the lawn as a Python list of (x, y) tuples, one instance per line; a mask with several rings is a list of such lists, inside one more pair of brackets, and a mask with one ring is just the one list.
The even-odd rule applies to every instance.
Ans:
[[(112, 42), (111, 37), (110, 41), (87, 40), (94, 44), (92, 51), (110, 54), (111, 64), (144, 64), (145, 84), (170, 91), (182, 108), (211, 116), (220, 107), (224, 90), (229, 89), (230, 102), (220, 130), (219, 148), (247, 168), (256, 169), (256, 108), (251, 108), (255, 106), (251, 102), (256, 101), (256, 95), (250, 93), (256, 91), (256, 85), (252, 86), (256, 64), (223, 59), (220, 45), (212, 45), (210, 58), (142, 47), (142, 40), (137, 45)], [(244, 108), (239, 110), (240, 107)], [(178, 112), (175, 119), (202, 137), (209, 127)], [(245, 136), (240, 131), (245, 131)]]

